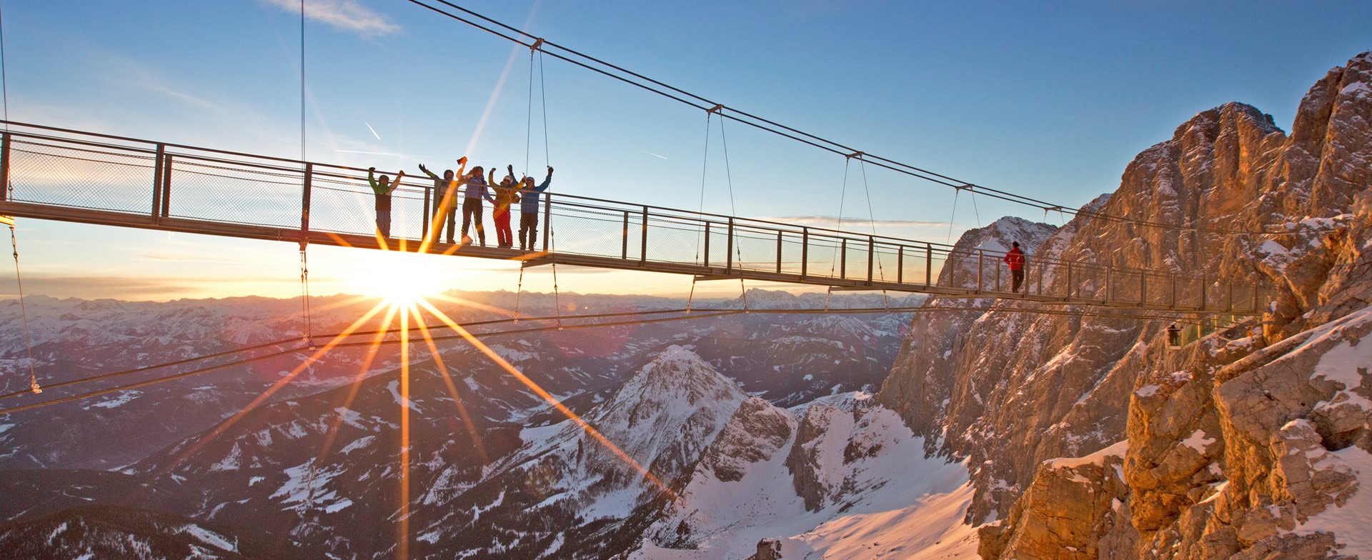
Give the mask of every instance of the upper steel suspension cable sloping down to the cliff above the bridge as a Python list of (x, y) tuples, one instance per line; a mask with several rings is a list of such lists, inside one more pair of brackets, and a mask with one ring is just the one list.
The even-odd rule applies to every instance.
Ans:
[[(753, 128), (756, 128), (759, 130), (764, 130), (764, 132), (768, 132), (768, 133), (772, 133), (772, 135), (777, 135), (777, 136), (782, 136), (782, 137), (786, 137), (786, 139), (790, 139), (790, 140), (796, 140), (796, 141), (800, 141), (800, 143), (804, 143), (804, 144), (809, 144), (812, 147), (816, 147), (816, 148), (820, 148), (820, 150), (826, 150), (826, 151), (837, 154), (837, 155), (849, 155), (849, 154), (853, 154), (853, 152), (858, 151), (858, 150), (853, 150), (852, 147), (848, 147), (845, 144), (841, 144), (841, 143), (837, 143), (837, 141), (833, 141), (833, 140), (827, 140), (827, 139), (820, 137), (818, 135), (812, 135), (812, 133), (808, 133), (808, 132), (804, 132), (804, 130), (800, 130), (800, 129), (796, 129), (796, 128), (792, 128), (792, 126), (786, 126), (786, 125), (782, 125), (779, 122), (775, 122), (775, 121), (771, 121), (771, 119), (766, 119), (766, 118), (757, 117), (757, 115), (746, 113), (746, 111), (737, 110), (734, 107), (729, 107), (729, 106), (724, 106), (724, 104), (720, 104), (720, 103), (715, 103), (715, 102), (712, 102), (712, 100), (709, 100), (709, 99), (707, 99), (704, 96), (700, 96), (700, 95), (687, 92), (685, 89), (668, 85), (665, 82), (649, 78), (649, 77), (646, 77), (643, 74), (639, 74), (639, 73), (627, 70), (624, 67), (616, 66), (613, 63), (605, 62), (602, 59), (598, 59), (598, 58), (582, 54), (582, 52), (579, 52), (576, 49), (564, 47), (564, 45), (557, 44), (554, 41), (549, 41), (549, 40), (536, 37), (534, 34), (530, 34), (527, 32), (519, 30), (519, 29), (516, 29), (513, 26), (509, 26), (509, 25), (502, 23), (499, 21), (491, 19), (491, 18), (488, 18), (486, 15), (482, 15), (482, 14), (475, 12), (472, 10), (464, 8), (464, 7), (457, 5), (457, 4), (451, 3), (451, 1), (447, 1), (447, 0), (435, 0), (435, 1), (438, 1), (438, 3), (440, 3), (443, 5), (447, 5), (447, 7), (453, 8), (453, 10), (458, 10), (461, 12), (464, 12), (464, 14), (471, 15), (471, 16), (475, 16), (477, 19), (486, 21), (486, 22), (488, 22), (491, 25), (499, 26), (499, 27), (502, 27), (502, 29), (505, 29), (509, 33), (513, 33), (516, 36), (502, 33), (502, 32), (499, 32), (497, 29), (491, 29), (490, 26), (482, 25), (480, 22), (472, 21), (469, 18), (464, 18), (464, 16), (461, 16), (458, 14), (453, 14), (453, 12), (436, 8), (436, 7), (434, 7), (434, 5), (431, 5), (431, 4), (425, 3), (425, 1), (421, 1), (421, 0), (407, 0), (407, 1), (410, 1), (412, 4), (420, 5), (420, 7), (424, 7), (424, 8), (429, 10), (429, 11), (434, 11), (435, 14), (440, 14), (440, 15), (449, 16), (449, 18), (451, 18), (454, 21), (466, 23), (466, 25), (473, 26), (473, 27), (477, 27), (480, 30), (484, 30), (487, 33), (491, 33), (491, 34), (494, 34), (497, 37), (501, 37), (501, 38), (505, 38), (508, 41), (519, 43), (519, 44), (525, 45), (525, 47), (532, 47), (534, 44), (539, 44), (539, 45), (545, 45), (545, 47), (557, 48), (560, 51), (567, 52), (569, 56), (568, 55), (561, 55), (561, 54), (557, 54), (557, 52), (547, 52), (546, 48), (543, 49), (543, 52), (547, 52), (549, 55), (552, 55), (552, 56), (554, 56), (557, 59), (561, 59), (564, 62), (568, 62), (568, 63), (584, 67), (584, 69), (591, 70), (594, 73), (611, 77), (611, 78), (622, 81), (624, 84), (628, 84), (628, 85), (641, 88), (641, 89), (649, 91), (652, 93), (657, 93), (660, 96), (676, 100), (679, 103), (685, 103), (685, 104), (689, 104), (689, 106), (693, 106), (693, 107), (701, 108), (701, 110), (709, 110), (711, 107), (729, 108), (733, 114), (730, 114), (730, 115), (722, 115), (722, 118), (729, 118), (729, 119), (733, 119), (735, 122), (741, 122), (741, 124), (753, 126)], [(525, 41), (520, 40), (517, 36), (534, 40), (534, 43), (525, 43)], [(576, 60), (576, 59), (573, 59), (573, 56), (584, 59), (584, 60), (590, 60), (591, 63)], [(593, 66), (593, 63), (594, 65), (600, 65), (602, 67), (595, 67), (595, 66)], [(619, 75), (616, 73), (605, 70), (605, 67), (612, 69), (612, 70), (619, 71), (619, 73), (623, 73), (623, 74), (627, 74), (627, 75), (630, 75), (632, 78), (642, 80), (642, 81), (645, 81), (648, 84), (642, 84), (639, 81), (627, 78), (624, 75)], [(659, 89), (659, 88), (661, 88), (661, 89)], [(665, 91), (663, 91), (663, 89), (665, 89)], [(737, 114), (737, 117), (735, 117), (735, 114)], [(941, 184), (941, 185), (945, 185), (945, 187), (952, 187), (952, 188), (958, 188), (958, 189), (975, 191), (975, 192), (980, 192), (984, 196), (989, 196), (989, 198), (993, 198), (993, 199), (1000, 199), (1000, 200), (1011, 202), (1011, 203), (1017, 203), (1017, 205), (1030, 206), (1030, 207), (1036, 207), (1036, 209), (1048, 209), (1048, 210), (1059, 210), (1061, 209), (1062, 211), (1067, 211), (1067, 213), (1072, 213), (1073, 215), (1078, 215), (1078, 217), (1099, 218), (1099, 220), (1115, 221), (1115, 222), (1137, 224), (1140, 226), (1150, 226), (1150, 228), (1159, 228), (1159, 229), (1174, 229), (1174, 231), (1183, 231), (1183, 232), (1190, 231), (1190, 232), (1213, 233), (1213, 235), (1302, 235), (1302, 233), (1309, 233), (1309, 232), (1291, 232), (1291, 231), (1258, 231), (1258, 232), (1253, 232), (1253, 231), (1238, 231), (1238, 229), (1222, 229), (1222, 228), (1207, 228), (1207, 226), (1173, 225), (1173, 224), (1161, 224), (1161, 222), (1148, 221), (1148, 220), (1137, 220), (1137, 218), (1128, 218), (1128, 217), (1121, 217), (1121, 215), (1110, 215), (1110, 214), (1103, 214), (1103, 213), (1089, 211), (1089, 210), (1081, 210), (1081, 209), (1070, 209), (1070, 207), (1066, 207), (1063, 205), (1050, 203), (1050, 202), (1045, 202), (1045, 200), (1041, 200), (1041, 199), (1037, 199), (1037, 198), (1018, 195), (1018, 194), (1014, 194), (1014, 192), (1008, 192), (1008, 191), (1003, 191), (1003, 189), (996, 189), (996, 188), (991, 188), (991, 187), (977, 185), (977, 184), (969, 183), (969, 181), (962, 181), (962, 180), (958, 180), (958, 178), (955, 178), (952, 176), (947, 176), (947, 174), (943, 174), (943, 173), (932, 172), (929, 169), (923, 169), (923, 167), (914, 166), (914, 165), (910, 165), (910, 163), (903, 163), (903, 162), (899, 162), (899, 161), (895, 161), (895, 159), (890, 159), (890, 158), (884, 158), (884, 156), (871, 155), (871, 154), (867, 154), (867, 155), (871, 158), (870, 163), (873, 163), (875, 166), (879, 166), (879, 167), (885, 167), (885, 169), (896, 172), (896, 173), (907, 174), (907, 176), (915, 177), (915, 178), (921, 178), (921, 180), (925, 180), (925, 181)]]

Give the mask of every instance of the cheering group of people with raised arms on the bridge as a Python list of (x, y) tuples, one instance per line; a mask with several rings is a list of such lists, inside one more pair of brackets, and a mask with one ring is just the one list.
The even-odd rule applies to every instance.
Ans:
[[(439, 239), (440, 229), (446, 224), (447, 243), (457, 243), (454, 240), (454, 226), (457, 225), (457, 199), (461, 198), (461, 243), (472, 243), (468, 232), (475, 222), (477, 243), (486, 247), (486, 226), (482, 224), (482, 200), (486, 200), (493, 207), (491, 217), (495, 218), (495, 240), (498, 247), (513, 248), (514, 235), (510, 231), (510, 209), (517, 203), (520, 207), (519, 248), (521, 251), (532, 250), (538, 242), (538, 205), (542, 200), (542, 192), (547, 191), (547, 187), (553, 183), (553, 167), (547, 167), (547, 176), (543, 178), (543, 183), (535, 184), (534, 177), (528, 176), (516, 180), (514, 166), (509, 165), (505, 167), (505, 177), (497, 183), (495, 167), (486, 172), (482, 166), (475, 166), (468, 172), (466, 156), (458, 158), (457, 163), (457, 173), (446, 169), (442, 177), (429, 172), (424, 163), (420, 163), (420, 172), (434, 180), (434, 207), (431, 215), (425, 217), (432, 224), (434, 239)], [(376, 167), (368, 167), (366, 170), (366, 181), (372, 185), (372, 192), (376, 195), (376, 232), (381, 237), (391, 236), (391, 194), (399, 188), (402, 178), (405, 178), (403, 170), (397, 173), (395, 178), (386, 174), (377, 178)]]

